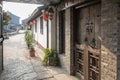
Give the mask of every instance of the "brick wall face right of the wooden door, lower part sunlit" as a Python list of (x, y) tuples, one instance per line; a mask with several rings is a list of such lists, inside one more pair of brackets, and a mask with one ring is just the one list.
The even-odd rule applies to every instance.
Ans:
[(117, 7), (116, 0), (102, 0), (101, 5), (101, 80), (117, 79)]

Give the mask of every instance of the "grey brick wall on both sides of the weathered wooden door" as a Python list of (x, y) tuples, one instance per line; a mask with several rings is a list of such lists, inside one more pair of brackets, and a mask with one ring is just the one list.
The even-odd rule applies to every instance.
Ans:
[[(70, 8), (67, 8), (66, 52), (60, 55), (62, 66), (69, 73), (72, 65), (70, 14)], [(120, 0), (101, 0), (101, 80), (120, 80)]]

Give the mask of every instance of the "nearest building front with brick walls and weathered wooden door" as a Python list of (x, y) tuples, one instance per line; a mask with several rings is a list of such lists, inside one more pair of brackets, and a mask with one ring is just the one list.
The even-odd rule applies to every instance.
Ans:
[(57, 52), (81, 80), (119, 80), (119, 0), (65, 0), (57, 5)]

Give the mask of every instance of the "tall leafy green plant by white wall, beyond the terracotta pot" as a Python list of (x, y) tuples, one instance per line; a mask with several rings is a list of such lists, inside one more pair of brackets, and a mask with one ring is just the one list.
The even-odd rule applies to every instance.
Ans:
[(25, 41), (26, 41), (26, 44), (28, 46), (28, 48), (30, 47), (30, 45), (32, 44), (33, 42), (33, 35), (30, 31), (26, 31), (25, 32)]

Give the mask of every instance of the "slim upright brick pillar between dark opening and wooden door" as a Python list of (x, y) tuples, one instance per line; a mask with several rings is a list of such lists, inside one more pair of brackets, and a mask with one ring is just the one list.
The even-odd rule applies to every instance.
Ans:
[(65, 62), (67, 72), (70, 74), (70, 56), (71, 56), (71, 9), (65, 11)]

